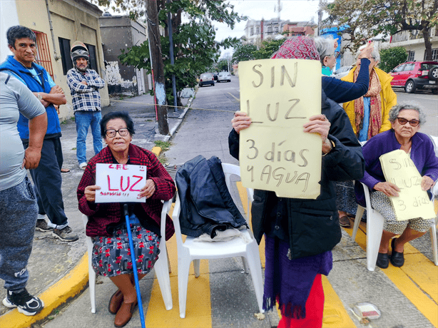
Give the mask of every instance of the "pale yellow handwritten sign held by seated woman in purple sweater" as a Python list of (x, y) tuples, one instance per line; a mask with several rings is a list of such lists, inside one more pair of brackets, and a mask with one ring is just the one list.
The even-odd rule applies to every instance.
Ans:
[(422, 190), (422, 176), (404, 150), (394, 150), (380, 156), (384, 178), (400, 189), (398, 197), (391, 197), (397, 220), (417, 217), (436, 217), (434, 205), (427, 192)]

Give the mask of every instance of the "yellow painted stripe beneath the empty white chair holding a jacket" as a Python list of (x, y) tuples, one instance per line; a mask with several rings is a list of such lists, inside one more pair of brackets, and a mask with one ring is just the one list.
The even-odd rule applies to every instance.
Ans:
[[(173, 212), (174, 205), (172, 205), (170, 212)], [(185, 240), (185, 236), (183, 236), (183, 240)], [(169, 311), (165, 309), (161, 289), (158, 285), (158, 280), (155, 279), (145, 318), (147, 327), (210, 328), (212, 320), (208, 260), (200, 260), (200, 276), (198, 278), (195, 278), (193, 264), (190, 265), (185, 318), (181, 319), (178, 304), (178, 251), (175, 236), (166, 242), (166, 247), (168, 249), (171, 270), (170, 290), (172, 290), (173, 308)]]

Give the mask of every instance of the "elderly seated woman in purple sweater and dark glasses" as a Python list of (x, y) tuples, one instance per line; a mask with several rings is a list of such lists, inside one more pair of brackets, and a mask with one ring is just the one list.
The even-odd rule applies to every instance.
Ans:
[[(389, 111), (389, 121), (392, 129), (382, 132), (365, 143), (363, 155), (365, 158), (365, 175), (360, 181), (371, 190), (372, 207), (384, 217), (382, 240), (380, 242), (377, 267), (386, 269), (389, 265), (389, 241), (391, 241), (392, 255), (390, 262), (394, 267), (404, 265), (404, 244), (421, 237), (429, 230), (432, 220), (422, 217), (412, 217), (411, 220), (397, 221), (390, 197), (397, 197), (400, 191), (397, 185), (385, 181), (380, 155), (392, 150), (404, 150), (414, 162), (422, 175), (422, 190), (429, 190), (438, 179), (438, 158), (434, 153), (432, 140), (424, 133), (419, 133), (421, 125), (425, 123), (425, 114), (422, 108), (413, 104), (394, 106)], [(362, 185), (356, 184), (358, 203), (364, 204)], [(398, 238), (394, 238), (400, 235)]]

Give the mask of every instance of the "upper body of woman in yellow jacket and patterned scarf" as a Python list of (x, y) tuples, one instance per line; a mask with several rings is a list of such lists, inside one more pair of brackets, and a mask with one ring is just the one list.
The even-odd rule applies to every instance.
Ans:
[[(356, 67), (352, 68), (342, 81), (356, 81), (362, 56), (363, 53), (359, 52)], [(392, 76), (377, 68), (380, 61), (379, 51), (374, 48), (368, 59), (371, 61), (368, 92), (365, 96), (344, 103), (345, 112), (359, 141), (366, 141), (377, 133), (389, 130), (391, 128), (388, 120), (389, 110), (397, 103), (397, 95), (391, 88)]]

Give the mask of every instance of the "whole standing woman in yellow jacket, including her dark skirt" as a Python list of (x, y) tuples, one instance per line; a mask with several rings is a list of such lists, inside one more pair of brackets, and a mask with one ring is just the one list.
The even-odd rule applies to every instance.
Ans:
[[(360, 70), (360, 59), (367, 56), (360, 50), (357, 53), (356, 67), (352, 68), (342, 81), (356, 82)], [(344, 109), (350, 118), (350, 123), (355, 131), (359, 141), (367, 141), (372, 136), (384, 132), (391, 128), (389, 122), (389, 110), (397, 104), (397, 95), (392, 91), (392, 76), (377, 68), (380, 61), (379, 51), (374, 48), (371, 55), (367, 57), (370, 60), (370, 86), (364, 96), (344, 103)], [(357, 211), (355, 202), (354, 185), (352, 181), (337, 183), (336, 185), (336, 204), (339, 210), (340, 225), (350, 227), (349, 216), (354, 217)]]

